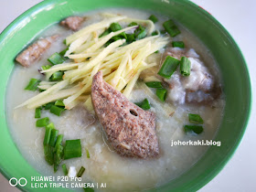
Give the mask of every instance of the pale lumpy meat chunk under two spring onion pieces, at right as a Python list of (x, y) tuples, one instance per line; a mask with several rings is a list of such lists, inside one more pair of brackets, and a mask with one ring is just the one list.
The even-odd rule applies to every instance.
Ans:
[(199, 60), (194, 49), (191, 48), (186, 51), (183, 48), (168, 48), (165, 55), (170, 55), (176, 59), (186, 56), (191, 63), (190, 76), (182, 76), (179, 68), (177, 68), (170, 80), (165, 79), (171, 90), (168, 94), (169, 100), (179, 104), (185, 102), (206, 103), (219, 96), (215, 93), (217, 89), (214, 77)]

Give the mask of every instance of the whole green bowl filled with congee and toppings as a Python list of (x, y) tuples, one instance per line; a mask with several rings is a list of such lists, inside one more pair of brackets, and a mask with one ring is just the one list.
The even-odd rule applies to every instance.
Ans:
[(0, 170), (23, 191), (195, 191), (250, 115), (240, 49), (186, 0), (43, 1), (0, 58)]

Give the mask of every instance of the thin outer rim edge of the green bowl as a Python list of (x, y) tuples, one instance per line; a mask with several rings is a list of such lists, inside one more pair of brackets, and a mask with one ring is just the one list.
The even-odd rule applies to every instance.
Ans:
[[(44, 8), (45, 5), (48, 4), (53, 4), (56, 2), (59, 2), (60, 0), (44, 0), (40, 3), (37, 3), (36, 5), (33, 5), (32, 7), (30, 7), (29, 9), (27, 9), (27, 11), (23, 12), (20, 16), (17, 16), (16, 19), (14, 21), (12, 21), (7, 27), (5, 27), (5, 29), (1, 32), (0, 34), (0, 44), (2, 43), (2, 41), (5, 39), (5, 37), (8, 36), (8, 33), (11, 32), (13, 30), (13, 28), (16, 27), (16, 25), (22, 21), (24, 18), (26, 18), (27, 16), (29, 16), (31, 13), (37, 11), (38, 9), (42, 9), (42, 7)], [(248, 123), (249, 123), (249, 119), (251, 116), (251, 102), (252, 102), (252, 92), (251, 92), (251, 78), (250, 78), (250, 73), (248, 70), (248, 65), (246, 63), (246, 60), (244, 59), (244, 56), (240, 50), (240, 47), (237, 45), (236, 41), (233, 39), (233, 37), (229, 34), (228, 30), (223, 27), (219, 21), (212, 16), (206, 9), (204, 9), (203, 7), (191, 2), (191, 1), (186, 1), (187, 4), (193, 6), (195, 9), (197, 9), (197, 12), (200, 12), (201, 14), (203, 14), (204, 16), (207, 16), (210, 20), (213, 21), (213, 23), (215, 23), (220, 30), (222, 30), (223, 33), (225, 33), (225, 35), (227, 37), (229, 37), (229, 40), (232, 41), (232, 44), (234, 45), (235, 48), (237, 48), (238, 52), (240, 53), (240, 59), (243, 60), (243, 63), (245, 64), (245, 69), (246, 69), (246, 74), (245, 76), (247, 76), (247, 80), (248, 80), (248, 84), (249, 84), (249, 90), (248, 90), (248, 111), (247, 111), (247, 115), (246, 115), (246, 119), (244, 120), (244, 125), (243, 125), (243, 129), (240, 132), (239, 137), (236, 140), (236, 143), (233, 144), (232, 148), (229, 151), (229, 154), (226, 155), (226, 157), (223, 159), (223, 161), (219, 164), (219, 166), (217, 166), (215, 168), (215, 170), (212, 171), (211, 175), (208, 177), (205, 177), (205, 179), (198, 183), (197, 186), (195, 186), (193, 189), (198, 190), (204, 186), (206, 186), (208, 184), (209, 181), (211, 181), (215, 176), (217, 176), (219, 174), (219, 172), (224, 168), (225, 165), (227, 165), (227, 163), (229, 162), (229, 160), (232, 158), (232, 156), (235, 154), (236, 150), (238, 149), (238, 147), (240, 146), (241, 140), (243, 138), (243, 135), (247, 129)], [(0, 167), (0, 173), (5, 176), (5, 178), (7, 180), (10, 179), (10, 176), (7, 176), (7, 171), (4, 170), (4, 167)], [(17, 185), (17, 187), (22, 190), (25, 191), (26, 189), (23, 187), (19, 187)]]

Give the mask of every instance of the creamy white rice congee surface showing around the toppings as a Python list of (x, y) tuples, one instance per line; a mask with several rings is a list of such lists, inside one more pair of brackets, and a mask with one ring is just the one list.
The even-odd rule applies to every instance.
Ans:
[[(110, 13), (122, 13), (125, 16), (142, 19), (146, 19), (152, 14), (133, 9), (104, 10), (104, 12), (106, 11)], [(101, 16), (99, 16), (99, 13), (101, 12), (87, 14), (86, 16), (89, 16), (89, 19), (83, 25), (87, 26), (100, 21)], [(159, 19), (155, 24), (156, 27), (162, 29), (162, 23), (168, 17), (158, 14), (155, 14), (155, 16)], [(178, 25), (178, 27), (181, 30), (181, 35), (175, 37), (174, 40), (182, 40), (185, 42), (187, 48), (194, 48), (200, 56), (200, 60), (204, 62), (215, 79), (221, 82), (219, 69), (215, 60), (210, 55), (208, 48), (197, 37), (189, 33), (186, 28), (181, 25)], [(53, 43), (52, 47), (43, 55), (42, 59), (30, 68), (16, 65), (10, 77), (6, 93), (6, 116), (16, 146), (20, 150), (20, 153), (27, 159), (27, 162), (35, 167), (43, 176), (63, 176), (61, 166), (59, 166), (58, 172), (54, 173), (52, 166), (49, 166), (45, 161), (43, 147), (45, 131), (44, 128), (36, 127), (37, 119), (34, 118), (35, 110), (29, 110), (26, 107), (15, 108), (32, 96), (37, 95), (37, 91), (25, 91), (24, 88), (31, 78), (43, 78), (38, 72), (38, 69), (48, 64), (47, 59), (53, 53), (66, 48), (62, 41), (71, 34), (71, 31), (64, 27), (59, 27), (59, 25), (54, 25), (40, 34), (39, 37), (47, 37), (54, 34), (59, 34), (61, 37), (57, 42)], [(160, 65), (160, 62), (163, 62), (159, 55), (157, 59), (156, 54), (153, 56), (153, 59), (157, 61), (158, 65)], [(144, 91), (138, 87), (133, 89), (131, 101), (142, 101), (144, 98), (147, 98)], [(166, 117), (163, 114), (163, 109), (155, 107), (159, 101), (148, 99), (152, 105), (151, 111), (155, 112), (157, 117), (156, 135), (160, 148), (159, 157), (153, 159), (127, 158), (117, 155), (104, 142), (105, 139), (100, 123), (89, 112), (86, 112), (82, 105), (70, 111), (63, 112), (60, 117), (48, 111), (42, 111), (41, 117), (49, 117), (50, 122), (55, 124), (59, 133), (64, 135), (64, 141), (80, 139), (82, 156), (64, 160), (63, 163), (67, 167), (75, 166), (77, 172), (81, 166), (84, 166), (86, 170), (82, 176), (82, 181), (106, 183), (106, 188), (95, 189), (96, 191), (143, 190), (151, 187), (159, 187), (182, 175), (206, 153), (208, 146), (173, 146), (172, 144), (175, 141), (213, 140), (218, 132), (225, 104), (223, 95), (214, 102), (214, 107), (202, 104), (177, 104), (174, 105), (176, 108), (175, 113), (172, 116)], [(165, 102), (168, 103), (168, 101)], [(200, 114), (204, 120), (203, 133), (195, 135), (184, 132), (183, 126), (189, 124), (187, 113)], [(93, 123), (94, 121), (95, 123)], [(90, 158), (86, 157), (86, 148), (89, 150)]]

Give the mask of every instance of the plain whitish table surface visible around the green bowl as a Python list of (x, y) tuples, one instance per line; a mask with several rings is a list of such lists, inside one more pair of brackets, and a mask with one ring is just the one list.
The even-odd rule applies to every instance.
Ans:
[[(0, 32), (17, 16), (41, 0), (8, 0), (2, 1), (0, 6)], [(256, 1), (247, 0), (192, 0), (206, 9), (212, 16), (228, 29), (231, 36), (239, 45), (247, 61), (251, 73), (252, 91), (256, 88)], [(201, 192), (221, 191), (255, 191), (256, 178), (256, 130), (254, 118), (256, 116), (256, 100), (253, 99), (251, 120), (242, 139), (240, 147), (223, 170)], [(0, 174), (0, 192), (18, 191), (10, 187), (8, 181)]]

